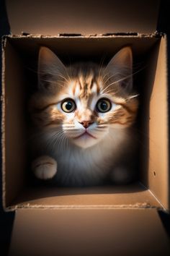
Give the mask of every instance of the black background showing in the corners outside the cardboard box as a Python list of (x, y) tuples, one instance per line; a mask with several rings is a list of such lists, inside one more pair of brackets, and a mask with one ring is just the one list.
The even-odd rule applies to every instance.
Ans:
[[(0, 0), (0, 4), (1, 4), (0, 5), (0, 36), (2, 36), (10, 33), (10, 26), (9, 26), (8, 17), (6, 15), (5, 1)], [(168, 65), (170, 69), (170, 61), (169, 61), (170, 60), (170, 19), (169, 19), (169, 16), (170, 16), (169, 1), (165, 1), (165, 0), (161, 1), (160, 7), (159, 7), (157, 30), (158, 32), (166, 33), (167, 35)], [(0, 76), (1, 76), (1, 72), (0, 72)], [(170, 81), (170, 75), (168, 74), (168, 76)], [(170, 95), (169, 95), (169, 103), (170, 103)], [(1, 198), (1, 173), (0, 173), (0, 198)], [(162, 212), (160, 212), (159, 215), (167, 231), (167, 234), (169, 234), (169, 238), (170, 238), (170, 216)], [(1, 204), (1, 199), (0, 199), (0, 252), (1, 252), (1, 255), (4, 255), (4, 256), (7, 255), (7, 252), (9, 249), (13, 221), (14, 221), (14, 212), (4, 213), (4, 210)]]

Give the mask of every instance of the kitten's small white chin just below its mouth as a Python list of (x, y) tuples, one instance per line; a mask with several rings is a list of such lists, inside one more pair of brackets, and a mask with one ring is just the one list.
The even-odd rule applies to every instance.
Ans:
[(74, 145), (80, 148), (91, 148), (99, 142), (99, 139), (94, 137), (89, 137), (89, 135), (83, 135), (81, 137), (73, 138), (72, 142)]

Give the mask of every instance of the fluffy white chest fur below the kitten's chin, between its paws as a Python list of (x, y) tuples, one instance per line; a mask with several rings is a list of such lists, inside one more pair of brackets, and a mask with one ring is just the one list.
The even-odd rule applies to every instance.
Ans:
[[(98, 184), (115, 165), (117, 158), (130, 144), (125, 129), (109, 132), (97, 145), (79, 148), (69, 144), (65, 150), (56, 150), (58, 163), (56, 179), (61, 184)], [(54, 153), (54, 152), (53, 152)]]

